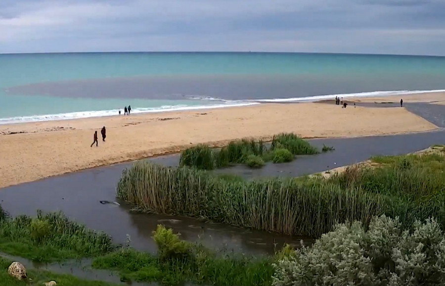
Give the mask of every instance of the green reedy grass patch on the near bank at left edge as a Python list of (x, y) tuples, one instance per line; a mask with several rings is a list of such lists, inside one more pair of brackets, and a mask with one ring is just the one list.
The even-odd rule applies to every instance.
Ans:
[(0, 222), (0, 251), (33, 261), (62, 261), (112, 251), (111, 237), (88, 230), (62, 213), (18, 216)]

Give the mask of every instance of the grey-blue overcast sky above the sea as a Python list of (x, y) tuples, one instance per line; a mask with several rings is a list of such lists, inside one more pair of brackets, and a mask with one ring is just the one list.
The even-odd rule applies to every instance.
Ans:
[(445, 55), (445, 0), (0, 0), (0, 53)]

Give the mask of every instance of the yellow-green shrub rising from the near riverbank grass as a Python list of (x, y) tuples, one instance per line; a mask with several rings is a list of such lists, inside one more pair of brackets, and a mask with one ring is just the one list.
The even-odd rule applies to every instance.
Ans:
[(162, 261), (186, 259), (190, 255), (190, 244), (179, 239), (172, 229), (158, 225), (156, 231), (153, 232), (153, 239), (158, 246), (159, 259)]

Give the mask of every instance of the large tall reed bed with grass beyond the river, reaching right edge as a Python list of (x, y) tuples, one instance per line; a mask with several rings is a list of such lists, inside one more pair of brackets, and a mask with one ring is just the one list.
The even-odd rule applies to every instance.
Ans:
[(445, 226), (445, 169), (440, 154), (378, 157), (377, 168), (350, 167), (329, 179), (227, 181), (187, 168), (147, 162), (125, 170), (118, 196), (156, 213), (204, 217), (210, 221), (291, 235), (319, 237), (336, 222), (376, 215), (437, 218)]

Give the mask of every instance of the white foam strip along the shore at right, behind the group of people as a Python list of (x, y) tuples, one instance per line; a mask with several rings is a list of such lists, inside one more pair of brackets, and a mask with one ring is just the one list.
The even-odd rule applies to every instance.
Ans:
[(316, 96), (304, 96), (293, 98), (271, 98), (271, 99), (256, 99), (245, 100), (252, 102), (301, 102), (301, 101), (318, 101), (323, 99), (332, 99), (338, 97), (373, 97), (373, 96), (390, 96), (390, 95), (412, 95), (412, 94), (427, 94), (445, 92), (445, 90), (433, 90), (433, 91), (381, 91), (381, 92), (368, 92), (368, 93), (356, 93), (356, 94), (338, 94), (338, 95), (316, 95)]

